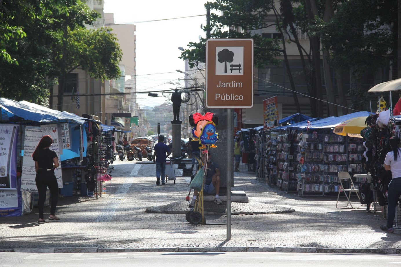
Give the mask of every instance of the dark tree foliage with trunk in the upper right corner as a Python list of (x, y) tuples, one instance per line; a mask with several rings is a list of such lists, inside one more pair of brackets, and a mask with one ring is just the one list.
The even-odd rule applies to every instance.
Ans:
[(362, 87), (362, 77), (397, 59), (397, 1), (338, 1), (333, 6), (332, 18), (316, 18), (309, 30), (320, 36), (334, 69), (350, 70), (351, 107), (361, 110), (368, 103), (369, 89)]

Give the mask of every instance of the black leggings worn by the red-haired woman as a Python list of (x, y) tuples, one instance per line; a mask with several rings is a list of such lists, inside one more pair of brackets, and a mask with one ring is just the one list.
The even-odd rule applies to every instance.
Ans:
[(39, 218), (43, 219), (43, 210), (46, 200), (46, 190), (48, 187), (51, 193), (50, 214), (55, 215), (57, 198), (59, 197), (59, 185), (57, 184), (57, 179), (56, 176), (54, 175), (54, 171), (40, 171), (36, 173), (35, 182), (39, 194), (39, 199), (38, 199)]

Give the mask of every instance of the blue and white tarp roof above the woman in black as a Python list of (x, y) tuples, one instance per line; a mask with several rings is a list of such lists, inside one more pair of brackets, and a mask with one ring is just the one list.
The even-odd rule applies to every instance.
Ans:
[(1, 120), (16, 121), (20, 118), (25, 121), (35, 121), (39, 123), (79, 123), (84, 124), (85, 121), (77, 117), (70, 116), (61, 111), (49, 109), (27, 101), (14, 101), (4, 97), (0, 97)]

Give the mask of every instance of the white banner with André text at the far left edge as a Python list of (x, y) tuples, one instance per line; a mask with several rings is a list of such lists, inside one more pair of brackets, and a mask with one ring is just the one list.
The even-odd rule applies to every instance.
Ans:
[(0, 124), (0, 189), (17, 188), (18, 125)]

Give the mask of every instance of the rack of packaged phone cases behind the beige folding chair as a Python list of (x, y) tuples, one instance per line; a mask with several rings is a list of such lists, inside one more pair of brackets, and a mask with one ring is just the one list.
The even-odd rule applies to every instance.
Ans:
[[(363, 172), (359, 151), (362, 139), (340, 136), (328, 129), (301, 131), (297, 135), (298, 195), (338, 194), (338, 172)], [(358, 188), (366, 178), (352, 178)]]

